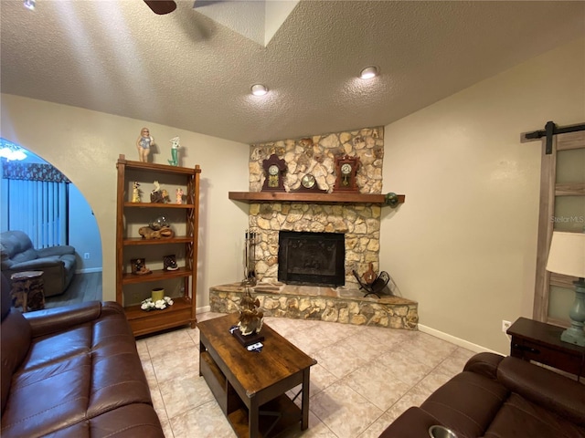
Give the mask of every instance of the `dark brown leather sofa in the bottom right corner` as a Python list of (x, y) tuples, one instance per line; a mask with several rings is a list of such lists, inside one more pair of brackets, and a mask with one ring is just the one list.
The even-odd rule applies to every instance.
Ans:
[(479, 353), (380, 437), (429, 438), (435, 424), (458, 438), (583, 438), (585, 385), (524, 360)]

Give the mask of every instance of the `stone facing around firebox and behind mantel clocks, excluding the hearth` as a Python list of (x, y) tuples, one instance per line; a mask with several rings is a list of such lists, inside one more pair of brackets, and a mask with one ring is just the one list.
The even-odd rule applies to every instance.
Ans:
[[(297, 140), (250, 146), (250, 192), (264, 182), (262, 162), (276, 153), (287, 165), (284, 188), (295, 192), (307, 173), (328, 193), (335, 184), (335, 157), (348, 154), (360, 159), (356, 181), (359, 193), (381, 193), (384, 128), (367, 128), (317, 135)], [(344, 260), (346, 287), (357, 287), (352, 272), (379, 269), (381, 206), (371, 203), (250, 203), (250, 230), (257, 235), (254, 263), (260, 281), (277, 281), (281, 231), (340, 233), (346, 235)]]

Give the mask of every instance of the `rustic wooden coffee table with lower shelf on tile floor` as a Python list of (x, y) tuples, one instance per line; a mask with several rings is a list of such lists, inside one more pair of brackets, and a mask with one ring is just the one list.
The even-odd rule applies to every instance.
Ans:
[[(316, 360), (264, 324), (260, 353), (229, 333), (238, 314), (198, 322), (199, 375), (207, 381), (239, 437), (267, 437), (301, 422), (309, 426), (309, 375)], [(297, 385), (293, 400), (285, 394)], [(301, 409), (294, 400), (302, 394)]]

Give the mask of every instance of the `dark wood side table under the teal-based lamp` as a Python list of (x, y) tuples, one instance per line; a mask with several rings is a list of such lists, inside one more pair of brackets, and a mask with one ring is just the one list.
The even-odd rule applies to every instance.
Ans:
[(565, 328), (528, 318), (518, 318), (506, 333), (512, 337), (510, 356), (534, 360), (575, 374), (585, 371), (585, 348), (560, 340)]

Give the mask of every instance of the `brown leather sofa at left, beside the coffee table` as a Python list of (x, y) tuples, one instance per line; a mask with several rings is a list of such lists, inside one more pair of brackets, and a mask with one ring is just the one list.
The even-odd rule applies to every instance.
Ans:
[(116, 303), (21, 314), (2, 275), (2, 429), (11, 437), (164, 437)]

